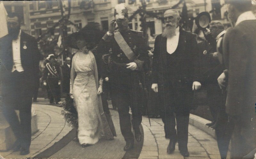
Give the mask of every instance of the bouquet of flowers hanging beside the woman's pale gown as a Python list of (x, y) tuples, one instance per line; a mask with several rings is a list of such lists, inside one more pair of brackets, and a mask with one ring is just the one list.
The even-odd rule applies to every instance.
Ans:
[(71, 98), (71, 94), (68, 94), (65, 100), (61, 102), (61, 106), (64, 109), (61, 111), (61, 114), (64, 115), (67, 123), (73, 128), (78, 129), (78, 114), (74, 98)]

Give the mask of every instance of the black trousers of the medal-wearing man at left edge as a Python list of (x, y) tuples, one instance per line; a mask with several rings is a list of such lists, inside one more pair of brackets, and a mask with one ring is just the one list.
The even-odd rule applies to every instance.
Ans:
[[(10, 79), (2, 81), (3, 113), (17, 138), (16, 144), (27, 149), (31, 143), (31, 105), (34, 81), (25, 71), (10, 73)], [(19, 117), (15, 110), (19, 110)], [(20, 118), (20, 121), (19, 121)]]

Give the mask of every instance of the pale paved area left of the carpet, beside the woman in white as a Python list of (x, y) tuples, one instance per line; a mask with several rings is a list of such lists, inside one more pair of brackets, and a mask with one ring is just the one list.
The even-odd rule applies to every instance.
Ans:
[(33, 158), (33, 156), (51, 147), (72, 129), (66, 124), (63, 115), (60, 114), (61, 107), (33, 103), (32, 108), (37, 114), (38, 132), (32, 136), (30, 153), (20, 155), (20, 151), (13, 152), (10, 150), (1, 152), (4, 158)]

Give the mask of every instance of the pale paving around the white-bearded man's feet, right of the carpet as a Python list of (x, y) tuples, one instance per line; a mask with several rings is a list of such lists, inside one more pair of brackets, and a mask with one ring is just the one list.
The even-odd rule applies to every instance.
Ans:
[[(167, 146), (169, 140), (164, 137), (164, 124), (162, 119), (150, 119), (151, 126), (147, 117), (143, 117), (142, 126), (144, 130), (144, 143), (139, 158), (142, 159), (183, 159), (184, 157), (178, 150), (176, 143), (173, 154), (167, 154)], [(188, 126), (188, 151), (190, 153), (187, 159), (218, 159), (220, 153), (217, 146), (217, 141), (209, 134), (195, 126)]]

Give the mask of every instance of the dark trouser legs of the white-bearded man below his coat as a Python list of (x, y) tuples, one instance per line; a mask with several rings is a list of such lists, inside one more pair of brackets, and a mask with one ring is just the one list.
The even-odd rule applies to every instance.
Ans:
[[(162, 112), (161, 118), (164, 122), (165, 138), (178, 141), (180, 151), (188, 151), (188, 123), (189, 112)], [(176, 122), (175, 122), (176, 118)], [(177, 132), (175, 129), (177, 123)]]

